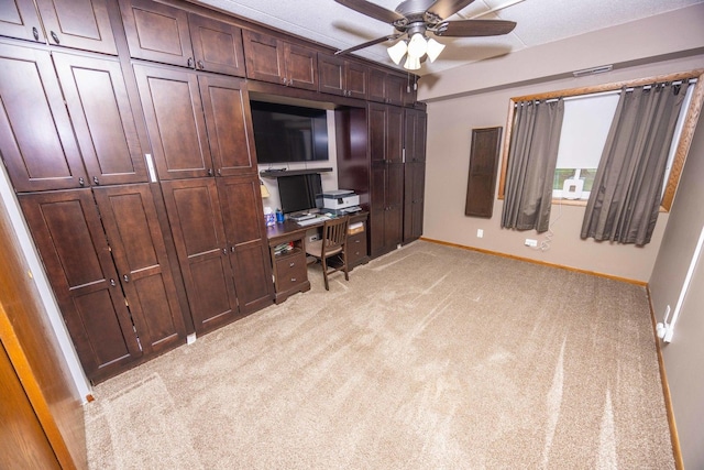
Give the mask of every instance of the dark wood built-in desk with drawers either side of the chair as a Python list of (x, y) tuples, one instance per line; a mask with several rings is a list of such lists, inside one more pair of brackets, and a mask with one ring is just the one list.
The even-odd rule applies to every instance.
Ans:
[[(350, 216), (350, 225), (361, 222), (363, 230), (358, 230), (348, 236), (348, 264), (350, 270), (359, 264), (366, 263), (367, 254), (366, 220), (369, 212), (355, 212)], [(272, 256), (272, 270), (274, 273), (275, 302), (280, 304), (288, 296), (310, 289), (306, 263), (306, 232), (318, 229), (323, 220), (309, 226), (286, 220), (266, 228), (268, 249)], [(288, 251), (277, 251), (277, 247), (288, 244)]]

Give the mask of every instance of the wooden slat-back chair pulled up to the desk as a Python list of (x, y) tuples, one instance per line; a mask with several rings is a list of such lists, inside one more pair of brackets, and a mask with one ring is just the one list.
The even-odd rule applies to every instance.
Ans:
[[(328, 276), (338, 271), (344, 271), (345, 281), (350, 281), (348, 271), (348, 223), (349, 216), (326, 220), (322, 226), (320, 240), (306, 243), (306, 253), (320, 260), (322, 264), (322, 277), (326, 281), (326, 291), (330, 291)], [(333, 265), (328, 264), (328, 259), (337, 256)]]

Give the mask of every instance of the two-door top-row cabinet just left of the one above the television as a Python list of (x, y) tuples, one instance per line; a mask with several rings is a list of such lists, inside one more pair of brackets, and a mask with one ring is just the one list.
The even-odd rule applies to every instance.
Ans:
[(239, 28), (151, 0), (120, 0), (120, 9), (132, 57), (245, 75)]

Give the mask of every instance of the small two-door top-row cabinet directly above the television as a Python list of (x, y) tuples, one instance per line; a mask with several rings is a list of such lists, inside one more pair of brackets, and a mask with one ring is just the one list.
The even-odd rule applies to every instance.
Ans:
[(316, 51), (254, 31), (242, 35), (248, 78), (318, 90)]

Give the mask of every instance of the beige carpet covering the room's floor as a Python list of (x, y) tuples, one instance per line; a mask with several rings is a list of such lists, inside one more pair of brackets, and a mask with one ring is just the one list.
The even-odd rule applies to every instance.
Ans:
[(671, 469), (645, 288), (418, 241), (95, 387), (95, 469)]

